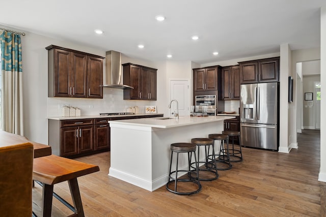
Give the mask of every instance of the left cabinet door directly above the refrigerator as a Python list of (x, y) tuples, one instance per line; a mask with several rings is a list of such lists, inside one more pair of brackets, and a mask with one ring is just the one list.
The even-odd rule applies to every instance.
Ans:
[(258, 62), (240, 64), (240, 83), (250, 84), (258, 82)]

